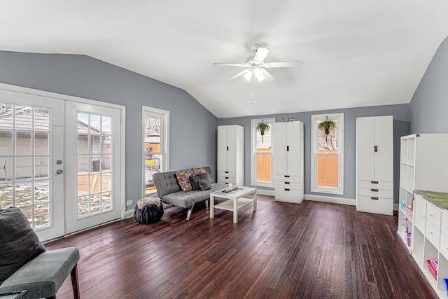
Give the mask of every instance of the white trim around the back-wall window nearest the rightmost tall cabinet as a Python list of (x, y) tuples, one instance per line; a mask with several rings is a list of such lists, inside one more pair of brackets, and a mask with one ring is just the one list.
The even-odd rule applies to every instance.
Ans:
[[(328, 118), (337, 118), (337, 188), (317, 186), (317, 122)], [(311, 116), (311, 192), (344, 194), (344, 113), (315, 114)]]

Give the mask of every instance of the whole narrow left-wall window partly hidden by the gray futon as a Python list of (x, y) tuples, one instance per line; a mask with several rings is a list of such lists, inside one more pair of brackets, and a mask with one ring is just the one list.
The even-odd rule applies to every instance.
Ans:
[(168, 170), (169, 111), (143, 107), (143, 197), (157, 192), (155, 172)]

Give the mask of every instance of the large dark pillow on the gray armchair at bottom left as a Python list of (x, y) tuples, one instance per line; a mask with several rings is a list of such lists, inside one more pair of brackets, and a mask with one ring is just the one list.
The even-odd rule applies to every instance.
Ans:
[(0, 284), (45, 247), (19, 208), (0, 211)]

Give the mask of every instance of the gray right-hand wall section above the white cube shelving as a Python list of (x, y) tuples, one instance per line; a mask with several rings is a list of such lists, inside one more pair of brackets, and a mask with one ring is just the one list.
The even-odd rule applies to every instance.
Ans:
[(412, 97), (412, 133), (448, 133), (448, 38), (437, 49)]

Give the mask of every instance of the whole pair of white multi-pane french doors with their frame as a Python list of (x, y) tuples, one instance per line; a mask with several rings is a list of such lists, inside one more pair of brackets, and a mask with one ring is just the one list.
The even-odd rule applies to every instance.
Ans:
[(123, 216), (121, 109), (60, 96), (0, 84), (0, 205), (41, 241)]

